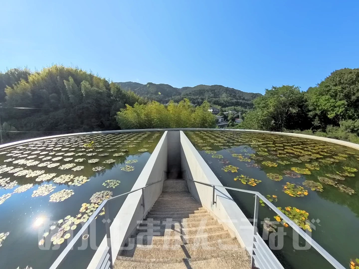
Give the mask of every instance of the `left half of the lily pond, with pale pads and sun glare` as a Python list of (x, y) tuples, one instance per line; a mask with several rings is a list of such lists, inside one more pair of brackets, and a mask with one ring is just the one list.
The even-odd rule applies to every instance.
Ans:
[[(68, 136), (1, 149), (0, 268), (49, 268), (104, 199), (131, 190), (162, 134)], [(98, 226), (97, 246), (105, 234)], [(94, 252), (81, 251), (66, 268), (86, 268)]]

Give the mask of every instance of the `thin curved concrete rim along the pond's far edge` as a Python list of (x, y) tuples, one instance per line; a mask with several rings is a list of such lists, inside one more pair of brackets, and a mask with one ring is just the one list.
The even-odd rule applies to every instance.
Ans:
[(36, 138), (30, 138), (25, 140), (19, 140), (15, 142), (5, 143), (0, 145), (0, 149), (4, 149), (7, 147), (26, 144), (34, 141), (41, 141), (46, 139), (53, 139), (59, 137), (67, 137), (67, 136), (75, 136), (75, 135), (88, 135), (88, 134), (118, 134), (118, 133), (134, 133), (134, 132), (165, 132), (165, 131), (216, 131), (216, 132), (227, 132), (227, 131), (234, 131), (234, 132), (249, 132), (249, 133), (261, 133), (261, 134), (278, 134), (278, 135), (287, 135), (287, 136), (294, 136), (294, 137), (301, 137), (301, 138), (308, 138), (313, 140), (320, 140), (335, 144), (340, 144), (344, 146), (348, 146), (351, 148), (355, 148), (359, 150), (359, 144), (347, 142), (339, 139), (334, 138), (327, 138), (322, 136), (315, 136), (309, 134), (295, 134), (295, 133), (282, 133), (282, 132), (272, 132), (272, 131), (260, 131), (260, 130), (244, 130), (244, 129), (206, 129), (206, 128), (168, 128), (168, 129), (131, 129), (131, 130), (113, 130), (113, 131), (96, 131), (96, 132), (86, 132), (86, 133), (74, 133), (74, 134), (57, 134), (57, 135), (50, 135), (50, 136), (41, 136)]

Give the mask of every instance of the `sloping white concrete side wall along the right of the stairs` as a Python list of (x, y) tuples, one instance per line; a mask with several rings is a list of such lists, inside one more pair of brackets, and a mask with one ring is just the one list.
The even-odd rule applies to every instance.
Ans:
[(242, 247), (245, 247), (249, 253), (252, 253), (253, 225), (224, 188), (216, 188), (216, 204), (213, 205), (212, 187), (190, 180), (194, 179), (196, 181), (222, 186), (218, 178), (183, 132), (180, 132), (180, 144), (182, 170), (187, 171), (183, 172), (183, 178), (187, 180), (189, 192), (227, 228), (232, 236), (237, 238)]

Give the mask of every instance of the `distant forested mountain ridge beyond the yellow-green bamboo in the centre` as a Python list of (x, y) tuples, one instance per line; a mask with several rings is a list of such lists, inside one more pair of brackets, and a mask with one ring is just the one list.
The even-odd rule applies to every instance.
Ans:
[(246, 93), (233, 88), (221, 85), (197, 85), (194, 87), (175, 88), (168, 84), (137, 82), (117, 82), (123, 90), (131, 90), (142, 97), (156, 100), (161, 103), (168, 103), (170, 100), (179, 102), (187, 98), (191, 103), (200, 105), (207, 100), (212, 105), (222, 107), (241, 106), (252, 107), (252, 101), (261, 96), (259, 93)]

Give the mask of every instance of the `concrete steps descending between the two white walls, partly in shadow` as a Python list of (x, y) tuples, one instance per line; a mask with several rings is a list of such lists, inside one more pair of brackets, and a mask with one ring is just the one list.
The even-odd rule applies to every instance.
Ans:
[(162, 194), (125, 247), (115, 269), (250, 268), (248, 253), (193, 198), (182, 179), (164, 181)]

